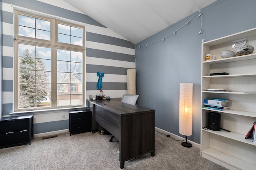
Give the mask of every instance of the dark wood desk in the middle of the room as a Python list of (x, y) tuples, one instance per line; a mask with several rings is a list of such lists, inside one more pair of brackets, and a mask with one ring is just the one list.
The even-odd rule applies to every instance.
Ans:
[[(143, 154), (155, 155), (155, 110), (115, 100), (90, 101), (92, 121), (119, 140), (120, 168)], [(93, 124), (93, 123), (92, 123)]]

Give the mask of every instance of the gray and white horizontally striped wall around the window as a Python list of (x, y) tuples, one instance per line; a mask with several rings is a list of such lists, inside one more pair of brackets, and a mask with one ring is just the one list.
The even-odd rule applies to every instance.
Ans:
[[(44, 0), (45, 2), (47, 0)], [(1, 1), (0, 1), (1, 2)], [(51, 4), (50, 4), (51, 3)], [(102, 90), (111, 98), (127, 93), (126, 70), (135, 67), (135, 46), (114, 31), (104, 27), (62, 0), (47, 3), (35, 0), (2, 0), (2, 116), (13, 112), (14, 49), (13, 12), (46, 15), (86, 27), (86, 99), (98, 93), (96, 72), (104, 72)], [(34, 112), (34, 134), (59, 133), (68, 130), (68, 111)], [(61, 115), (65, 114), (65, 120)]]

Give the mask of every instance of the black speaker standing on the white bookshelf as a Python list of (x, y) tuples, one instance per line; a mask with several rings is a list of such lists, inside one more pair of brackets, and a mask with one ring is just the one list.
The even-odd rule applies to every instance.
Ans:
[(220, 131), (220, 113), (208, 113), (208, 129), (212, 131)]

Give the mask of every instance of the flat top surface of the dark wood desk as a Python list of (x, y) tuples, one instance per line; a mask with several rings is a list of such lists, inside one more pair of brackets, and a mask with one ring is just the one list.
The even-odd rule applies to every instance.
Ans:
[(146, 107), (135, 106), (132, 104), (122, 103), (116, 100), (92, 100), (93, 104), (104, 107), (104, 109), (111, 111), (117, 115), (127, 115), (127, 114), (140, 114), (149, 111), (155, 111), (154, 109), (149, 109)]

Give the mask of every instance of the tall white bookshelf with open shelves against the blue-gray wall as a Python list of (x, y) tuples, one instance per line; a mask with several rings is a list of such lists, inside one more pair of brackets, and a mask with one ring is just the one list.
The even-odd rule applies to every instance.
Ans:
[[(250, 55), (223, 59), (222, 51), (232, 49), (232, 41), (247, 38), (246, 45), (255, 50)], [(216, 55), (216, 60), (205, 61), (206, 54)], [(228, 75), (210, 76), (210, 73), (228, 72)], [(206, 91), (224, 88), (226, 91)], [(202, 43), (202, 106), (204, 99), (229, 99), (230, 109), (217, 111), (202, 108), (201, 156), (228, 169), (256, 169), (256, 143), (245, 139), (252, 123), (256, 121), (256, 28)], [(206, 130), (208, 112), (221, 115), (220, 127), (224, 130)]]

